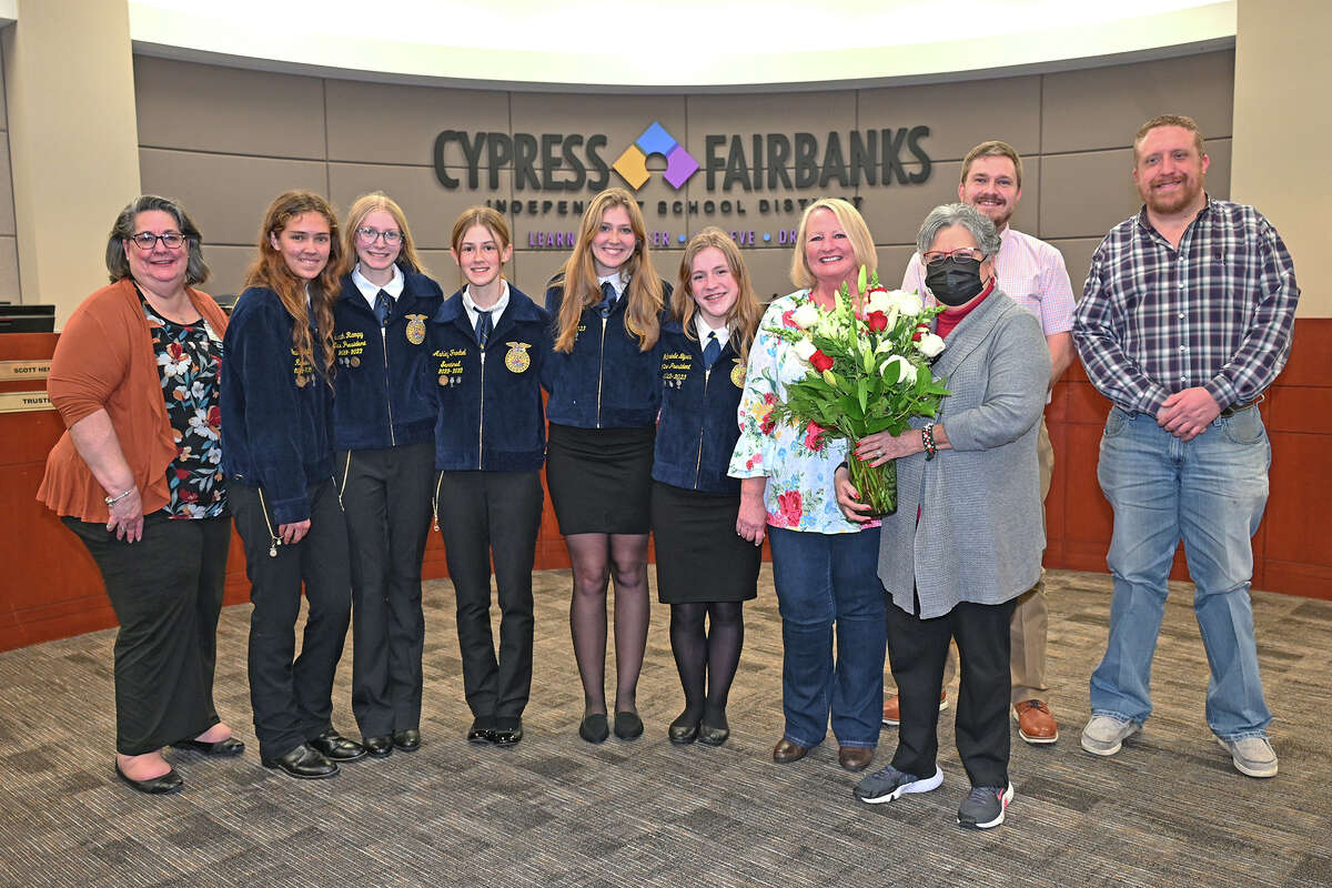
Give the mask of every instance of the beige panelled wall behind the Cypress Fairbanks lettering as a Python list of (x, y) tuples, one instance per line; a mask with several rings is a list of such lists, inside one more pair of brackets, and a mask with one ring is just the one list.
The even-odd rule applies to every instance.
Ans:
[[(886, 281), (900, 280), (910, 244), (924, 213), (955, 200), (960, 160), (986, 138), (1004, 138), (1027, 158), (1023, 202), (1014, 220), (1022, 230), (1055, 242), (1080, 292), (1100, 237), (1132, 213), (1138, 197), (1130, 177), (1130, 144), (1138, 126), (1156, 113), (1180, 112), (1199, 120), (1212, 154), (1209, 189), (1229, 190), (1233, 56), (1215, 52), (1164, 61), (1092, 68), (1079, 72), (978, 80), (924, 87), (844, 89), (825, 93), (742, 96), (559, 96), (482, 92), (432, 87), (353, 83), (272, 75), (210, 65), (136, 57), (140, 172), (145, 190), (181, 198), (208, 241), (214, 268), (209, 289), (234, 293), (253, 249), (268, 201), (282, 188), (328, 194), (346, 208), (358, 194), (382, 189), (397, 198), (425, 258), (446, 289), (456, 282), (448, 237), (465, 206), (500, 197), (586, 200), (587, 193), (514, 192), (513, 176), (500, 174), (500, 192), (464, 188), (450, 192), (434, 177), (432, 149), (444, 129), (502, 133), (605, 133), (602, 152), (613, 162), (654, 120), (703, 158), (709, 133), (813, 132), (821, 144), (829, 130), (843, 140), (850, 130), (927, 125), (923, 141), (934, 173), (923, 185), (860, 185), (830, 189), (860, 196), (870, 229), (880, 245)], [(903, 152), (903, 157), (907, 157)], [(457, 176), (461, 152), (448, 156)], [(661, 168), (657, 164), (655, 168)], [(653, 169), (653, 162), (649, 162)], [(623, 184), (611, 173), (611, 184)], [(794, 228), (799, 213), (761, 217), (757, 201), (813, 197), (819, 189), (707, 193), (698, 172), (681, 192), (654, 174), (638, 192), (647, 202), (650, 230), (669, 232), (675, 249), (657, 250), (657, 268), (674, 278), (675, 237), (715, 222), (727, 230), (754, 229), (777, 236)], [(485, 186), (485, 176), (481, 185)], [(658, 200), (730, 197), (749, 213), (715, 218), (658, 216)], [(577, 217), (510, 217), (515, 252), (511, 280), (531, 293), (563, 258), (563, 250), (527, 249), (537, 230), (573, 230)], [(790, 290), (790, 249), (746, 250), (757, 288), (765, 297)]]

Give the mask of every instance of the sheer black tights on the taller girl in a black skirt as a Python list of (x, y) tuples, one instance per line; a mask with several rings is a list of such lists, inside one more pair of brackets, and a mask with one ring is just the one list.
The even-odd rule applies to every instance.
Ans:
[(635, 712), (647, 647), (647, 534), (565, 537), (574, 572), (569, 628), (587, 712), (606, 711), (606, 584), (615, 579), (615, 711)]

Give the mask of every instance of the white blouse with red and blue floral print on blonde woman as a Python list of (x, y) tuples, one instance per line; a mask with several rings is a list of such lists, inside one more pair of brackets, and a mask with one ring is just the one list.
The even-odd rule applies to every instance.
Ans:
[(809, 290), (773, 300), (750, 346), (745, 393), (738, 411), (741, 437), (731, 454), (733, 478), (767, 477), (767, 523), (785, 530), (819, 534), (854, 534), (860, 525), (847, 521), (836, 505), (832, 475), (846, 459), (847, 442), (826, 438), (822, 429), (778, 423), (773, 405), (786, 398), (786, 386), (809, 371), (791, 343), (766, 333), (789, 326), (791, 314), (809, 301)]

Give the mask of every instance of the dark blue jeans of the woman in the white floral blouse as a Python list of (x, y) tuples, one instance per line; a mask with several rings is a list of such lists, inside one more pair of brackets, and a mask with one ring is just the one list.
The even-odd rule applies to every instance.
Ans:
[(840, 746), (874, 748), (883, 719), (887, 651), (879, 530), (818, 534), (769, 527), (767, 533), (782, 612), (783, 736), (818, 746), (831, 711)]

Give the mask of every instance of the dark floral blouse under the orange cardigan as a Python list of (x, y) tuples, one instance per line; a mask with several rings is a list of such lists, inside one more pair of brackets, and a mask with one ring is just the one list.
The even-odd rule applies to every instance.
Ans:
[(166, 466), (170, 502), (164, 511), (172, 518), (224, 515), (226, 486), (217, 405), (222, 339), (204, 318), (176, 324), (155, 312), (147, 300), (143, 302), (157, 354), (166, 419), (176, 438), (176, 458)]

